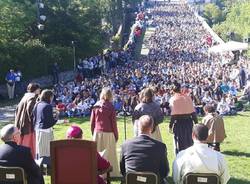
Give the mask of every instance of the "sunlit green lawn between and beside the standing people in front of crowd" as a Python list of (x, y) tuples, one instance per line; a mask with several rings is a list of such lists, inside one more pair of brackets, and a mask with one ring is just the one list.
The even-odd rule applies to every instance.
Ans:
[[(120, 145), (124, 141), (124, 119), (118, 120), (119, 141), (118, 152)], [(54, 129), (55, 138), (61, 139), (65, 137), (65, 132), (71, 123), (78, 124), (83, 129), (85, 139), (91, 140), (90, 123), (88, 119), (71, 119), (68, 124), (56, 125)], [(168, 119), (160, 125), (161, 134), (164, 143), (168, 148), (169, 163), (172, 164), (174, 159), (173, 137), (167, 132)], [(243, 112), (237, 116), (225, 117), (225, 127), (227, 138), (221, 146), (221, 150), (226, 156), (231, 179), (229, 184), (247, 184), (250, 183), (250, 112)], [(127, 118), (127, 137), (133, 137), (133, 129), (131, 119)], [(118, 153), (119, 154), (119, 153)], [(170, 165), (171, 167), (171, 165)], [(171, 174), (168, 178), (172, 182)], [(120, 182), (112, 182), (118, 184)], [(50, 178), (46, 177), (46, 184), (50, 184)]]

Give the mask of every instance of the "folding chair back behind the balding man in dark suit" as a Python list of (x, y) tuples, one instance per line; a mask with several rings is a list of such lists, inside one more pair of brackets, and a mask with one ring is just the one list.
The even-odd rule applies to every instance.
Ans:
[(126, 184), (158, 184), (158, 177), (152, 172), (129, 172)]

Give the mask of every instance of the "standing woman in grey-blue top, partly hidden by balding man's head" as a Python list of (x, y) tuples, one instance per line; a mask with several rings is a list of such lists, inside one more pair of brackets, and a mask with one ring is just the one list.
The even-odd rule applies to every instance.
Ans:
[(164, 115), (160, 105), (154, 102), (154, 92), (151, 88), (145, 88), (140, 92), (140, 103), (135, 107), (132, 115), (134, 124), (134, 134), (138, 135), (138, 120), (143, 115), (150, 115), (154, 119), (154, 129), (152, 137), (158, 141), (162, 141), (159, 124), (163, 122)]

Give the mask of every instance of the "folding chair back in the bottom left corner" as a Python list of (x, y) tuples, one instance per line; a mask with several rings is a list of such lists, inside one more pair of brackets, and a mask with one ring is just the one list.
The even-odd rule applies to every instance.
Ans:
[(27, 184), (23, 168), (0, 166), (0, 184)]

